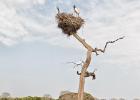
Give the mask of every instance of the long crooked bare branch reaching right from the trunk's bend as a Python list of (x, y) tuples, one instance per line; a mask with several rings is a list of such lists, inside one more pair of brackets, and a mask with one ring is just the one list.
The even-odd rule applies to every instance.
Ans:
[(121, 39), (124, 39), (124, 38), (125, 38), (125, 36), (120, 37), (120, 38), (118, 38), (118, 39), (116, 39), (116, 40), (114, 40), (114, 41), (108, 41), (108, 42), (106, 42), (106, 44), (105, 44), (105, 46), (104, 46), (104, 49), (95, 48), (94, 52), (96, 53), (96, 55), (99, 55), (97, 51), (100, 51), (100, 52), (104, 53), (105, 50), (106, 50), (106, 48), (107, 48), (107, 46), (108, 46), (108, 44), (110, 44), (110, 43), (115, 43), (116, 41), (121, 40)]

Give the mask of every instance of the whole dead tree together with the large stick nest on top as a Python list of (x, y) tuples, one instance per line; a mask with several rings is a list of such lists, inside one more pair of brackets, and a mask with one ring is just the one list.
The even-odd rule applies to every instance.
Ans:
[(89, 73), (87, 72), (88, 66), (91, 62), (92, 59), (92, 53), (95, 53), (96, 55), (99, 55), (98, 52), (104, 53), (106, 51), (106, 48), (108, 44), (110, 43), (115, 43), (116, 41), (123, 39), (124, 37), (120, 37), (114, 41), (108, 41), (106, 42), (105, 46), (103, 49), (100, 48), (93, 48), (90, 46), (85, 39), (81, 38), (78, 34), (77, 31), (81, 28), (81, 26), (84, 24), (84, 19), (82, 19), (79, 16), (73, 16), (73, 14), (69, 13), (58, 13), (56, 15), (56, 20), (58, 23), (58, 28), (62, 29), (63, 33), (66, 34), (67, 36), (73, 36), (75, 37), (86, 49), (87, 49), (87, 56), (86, 60), (84, 61), (84, 64), (81, 69), (81, 73), (77, 73), (80, 75), (80, 80), (79, 80), (79, 90), (78, 90), (78, 99), (77, 100), (83, 100), (83, 94), (84, 94), (84, 84), (85, 84), (85, 77), (92, 76), (93, 79), (95, 78), (94, 73)]

